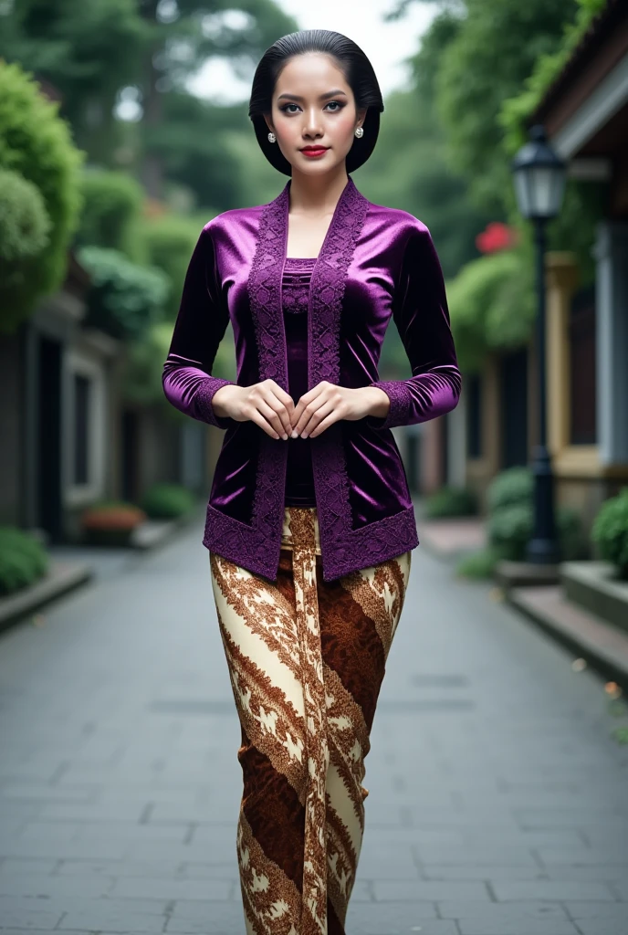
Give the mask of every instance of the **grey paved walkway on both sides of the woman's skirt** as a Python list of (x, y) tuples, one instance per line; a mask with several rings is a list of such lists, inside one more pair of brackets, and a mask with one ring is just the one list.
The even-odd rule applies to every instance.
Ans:
[[(243, 935), (239, 729), (202, 530), (0, 637), (0, 929)], [(413, 552), (348, 935), (626, 935), (604, 685)]]

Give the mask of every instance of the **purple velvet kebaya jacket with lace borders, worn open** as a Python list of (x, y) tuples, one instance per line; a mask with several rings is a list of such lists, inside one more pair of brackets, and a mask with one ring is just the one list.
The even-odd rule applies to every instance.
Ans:
[[(265, 205), (223, 211), (201, 231), (190, 261), (164, 393), (178, 410), (226, 429), (207, 503), (203, 544), (277, 579), (289, 442), (257, 424), (218, 416), (211, 376), (231, 320), (240, 386), (272, 378), (289, 392), (282, 277), (292, 179)], [(307, 388), (323, 380), (379, 386), (385, 418), (340, 420), (310, 441), (325, 581), (419, 544), (407, 476), (393, 433), (453, 410), (461, 375), (445, 283), (431, 234), (405, 210), (384, 208), (349, 177), (309, 286)], [(391, 318), (412, 376), (378, 379)], [(295, 400), (297, 402), (298, 400)]]

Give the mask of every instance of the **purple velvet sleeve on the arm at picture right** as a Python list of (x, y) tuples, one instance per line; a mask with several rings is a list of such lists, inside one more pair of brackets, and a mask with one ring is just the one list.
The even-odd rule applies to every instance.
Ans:
[(462, 377), (450, 328), (442, 268), (428, 228), (415, 219), (393, 299), (393, 320), (412, 368), (407, 380), (377, 380), (391, 399), (385, 417), (366, 416), (373, 428), (428, 422), (455, 409)]

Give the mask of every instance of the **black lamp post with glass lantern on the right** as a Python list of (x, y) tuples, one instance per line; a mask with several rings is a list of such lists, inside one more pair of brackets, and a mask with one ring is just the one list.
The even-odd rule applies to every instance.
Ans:
[(535, 224), (536, 244), (536, 352), (538, 355), (538, 444), (533, 453), (534, 528), (528, 542), (528, 561), (551, 565), (560, 550), (554, 519), (554, 487), (547, 444), (547, 374), (545, 350), (545, 225), (563, 203), (566, 167), (551, 149), (545, 127), (535, 124), (530, 141), (512, 161), (517, 203), (524, 218)]

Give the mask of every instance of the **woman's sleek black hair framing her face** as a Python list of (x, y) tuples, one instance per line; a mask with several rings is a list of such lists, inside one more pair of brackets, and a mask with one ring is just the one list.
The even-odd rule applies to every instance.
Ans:
[(268, 125), (264, 114), (272, 113), (273, 93), (282, 69), (295, 55), (304, 52), (321, 52), (335, 60), (355, 97), (356, 109), (367, 108), (364, 117), (364, 135), (354, 137), (347, 153), (347, 173), (364, 165), (379, 133), (379, 114), (384, 103), (379, 90), (373, 65), (362, 49), (342, 33), (329, 29), (303, 29), (281, 36), (265, 50), (253, 76), (250, 93), (249, 116), (255, 128), (260, 149), (270, 163), (284, 175), (292, 176), (293, 166), (278, 148), (277, 143), (268, 141)]

